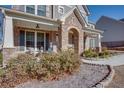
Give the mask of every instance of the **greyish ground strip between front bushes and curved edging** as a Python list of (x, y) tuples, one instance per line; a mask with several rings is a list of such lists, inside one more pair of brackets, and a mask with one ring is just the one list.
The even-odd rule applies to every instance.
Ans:
[(20, 84), (20, 88), (88, 88), (103, 79), (109, 70), (107, 66), (82, 64), (80, 71), (59, 81), (30, 81)]

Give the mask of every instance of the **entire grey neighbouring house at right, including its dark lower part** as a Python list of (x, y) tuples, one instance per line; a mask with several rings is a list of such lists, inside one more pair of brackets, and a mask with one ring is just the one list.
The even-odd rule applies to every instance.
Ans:
[(124, 47), (124, 22), (102, 16), (96, 28), (104, 31), (102, 45), (105, 47)]

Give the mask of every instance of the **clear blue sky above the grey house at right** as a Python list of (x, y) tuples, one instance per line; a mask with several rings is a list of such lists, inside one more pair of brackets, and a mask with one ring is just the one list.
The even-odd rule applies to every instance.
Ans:
[(124, 5), (88, 5), (88, 9), (89, 21), (92, 23), (96, 23), (103, 15), (117, 20), (124, 18)]

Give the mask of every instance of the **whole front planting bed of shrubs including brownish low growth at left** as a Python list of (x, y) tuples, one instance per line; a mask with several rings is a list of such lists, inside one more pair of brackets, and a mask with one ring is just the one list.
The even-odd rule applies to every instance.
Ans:
[(9, 60), (7, 67), (0, 69), (0, 87), (15, 87), (32, 81), (59, 80), (79, 70), (80, 59), (71, 50), (59, 53), (45, 53), (34, 57), (19, 54)]

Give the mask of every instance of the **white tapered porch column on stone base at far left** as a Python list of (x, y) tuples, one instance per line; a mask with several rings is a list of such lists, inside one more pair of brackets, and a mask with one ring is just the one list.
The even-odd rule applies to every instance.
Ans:
[(6, 16), (4, 22), (3, 66), (15, 52), (13, 38), (13, 20), (12, 17)]

